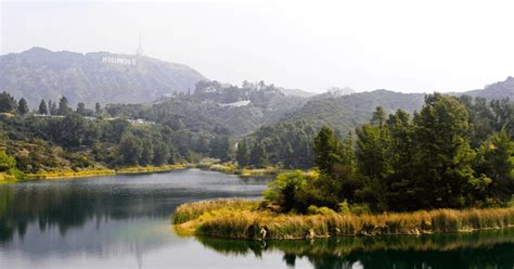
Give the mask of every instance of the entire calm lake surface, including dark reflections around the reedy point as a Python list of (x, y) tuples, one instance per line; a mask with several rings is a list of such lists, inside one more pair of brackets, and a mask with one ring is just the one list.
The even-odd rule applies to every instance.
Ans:
[(175, 208), (264, 179), (184, 170), (0, 185), (1, 268), (514, 268), (514, 231), (270, 241), (180, 238)]

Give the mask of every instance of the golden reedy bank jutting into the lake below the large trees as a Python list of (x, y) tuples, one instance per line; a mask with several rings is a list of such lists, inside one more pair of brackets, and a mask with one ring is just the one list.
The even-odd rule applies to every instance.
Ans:
[(228, 239), (455, 233), (514, 227), (514, 208), (378, 215), (338, 214), (326, 208), (312, 215), (293, 215), (262, 209), (260, 202), (207, 201), (181, 205), (174, 216), (174, 223), (183, 234)]

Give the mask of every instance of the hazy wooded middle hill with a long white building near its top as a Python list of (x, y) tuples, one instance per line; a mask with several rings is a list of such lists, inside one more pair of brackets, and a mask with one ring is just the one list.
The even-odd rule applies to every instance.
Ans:
[(286, 113), (299, 110), (308, 100), (285, 95), (264, 82), (237, 86), (216, 80), (196, 84), (191, 94), (163, 98), (151, 104), (111, 104), (113, 116), (144, 118), (183, 126), (204, 134), (228, 132), (235, 137), (250, 133), (262, 125), (278, 123)]

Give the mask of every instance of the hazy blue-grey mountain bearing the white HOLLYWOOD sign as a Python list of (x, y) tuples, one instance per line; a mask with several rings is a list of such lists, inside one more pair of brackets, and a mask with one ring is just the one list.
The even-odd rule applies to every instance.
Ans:
[(33, 48), (0, 56), (0, 90), (24, 97), (31, 107), (41, 99), (62, 95), (72, 105), (144, 103), (193, 90), (205, 79), (187, 65), (108, 52), (81, 54)]

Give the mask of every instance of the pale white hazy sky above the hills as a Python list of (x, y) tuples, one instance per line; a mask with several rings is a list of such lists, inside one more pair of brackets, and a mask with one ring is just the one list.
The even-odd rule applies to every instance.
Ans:
[(133, 53), (286, 88), (471, 90), (514, 76), (514, 1), (2, 1), (1, 54)]

